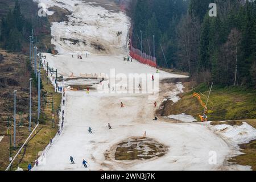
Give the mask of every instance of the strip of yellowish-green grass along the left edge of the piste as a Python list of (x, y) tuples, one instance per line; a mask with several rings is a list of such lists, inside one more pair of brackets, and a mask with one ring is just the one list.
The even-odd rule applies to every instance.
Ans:
[[(61, 104), (61, 94), (55, 93), (55, 89), (51, 82), (47, 83), (46, 71), (42, 70), (42, 83), (47, 101), (53, 100), (53, 109), (58, 109)], [(38, 152), (43, 151), (49, 144), (49, 140), (57, 133), (57, 123), (59, 118), (55, 113), (55, 127), (52, 127), (52, 104), (45, 104), (42, 100), (42, 114), (40, 116), (40, 125), (32, 139), (27, 143), (27, 146), (14, 162), (14, 168), (20, 167), (27, 169), (28, 163), (34, 164), (38, 158)], [(27, 129), (26, 129), (27, 130)], [(26, 136), (28, 136), (27, 134)], [(24, 138), (25, 139), (25, 138)], [(14, 152), (15, 153), (15, 152)], [(23, 155), (24, 154), (24, 155)], [(18, 164), (19, 163), (19, 164)]]

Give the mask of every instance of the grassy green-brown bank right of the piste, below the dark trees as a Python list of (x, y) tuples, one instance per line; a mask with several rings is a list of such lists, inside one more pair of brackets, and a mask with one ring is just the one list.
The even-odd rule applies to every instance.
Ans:
[[(171, 114), (189, 114), (199, 119), (199, 114), (203, 114), (204, 108), (200, 105), (197, 98), (193, 97), (193, 92), (201, 92), (205, 96), (209, 94), (209, 86), (201, 84), (195, 90), (181, 94), (181, 100), (175, 104), (168, 101), (165, 104), (163, 115)], [(202, 100), (206, 103), (207, 98), (201, 96)], [(238, 87), (221, 88), (213, 86), (212, 93), (208, 102), (209, 121), (226, 121), (226, 120), (239, 120), (239, 119), (254, 119), (256, 118), (256, 90), (242, 89)]]

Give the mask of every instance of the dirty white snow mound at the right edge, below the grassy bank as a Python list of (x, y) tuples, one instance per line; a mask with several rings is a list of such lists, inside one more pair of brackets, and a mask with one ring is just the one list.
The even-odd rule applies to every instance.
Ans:
[(256, 139), (256, 129), (246, 122), (241, 126), (216, 125), (214, 129), (236, 144), (248, 143)]

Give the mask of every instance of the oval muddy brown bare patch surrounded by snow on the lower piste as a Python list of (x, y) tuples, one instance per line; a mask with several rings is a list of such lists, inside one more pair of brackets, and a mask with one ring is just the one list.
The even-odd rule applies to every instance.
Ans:
[(167, 146), (151, 139), (142, 137), (132, 137), (114, 145), (110, 151), (106, 152), (106, 159), (115, 160), (144, 160), (159, 158), (166, 154)]

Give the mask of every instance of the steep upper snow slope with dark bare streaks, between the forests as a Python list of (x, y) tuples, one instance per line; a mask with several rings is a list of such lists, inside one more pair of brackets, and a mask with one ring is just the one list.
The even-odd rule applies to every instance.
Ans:
[(46, 9), (57, 6), (72, 13), (68, 15), (68, 22), (52, 23), (52, 44), (59, 53), (127, 54), (130, 20), (124, 13), (79, 0), (34, 1), (43, 3)]

